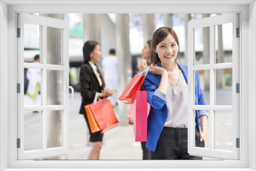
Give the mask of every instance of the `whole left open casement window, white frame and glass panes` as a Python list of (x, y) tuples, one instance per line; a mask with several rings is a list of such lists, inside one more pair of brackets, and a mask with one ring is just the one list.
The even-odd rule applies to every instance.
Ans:
[[(71, 88), (69, 24), (44, 16), (17, 15), (17, 159), (66, 155)], [(34, 60), (35, 54), (31, 54), (34, 62), (28, 62), (26, 49), (34, 49), (39, 59)]]

